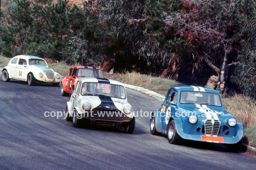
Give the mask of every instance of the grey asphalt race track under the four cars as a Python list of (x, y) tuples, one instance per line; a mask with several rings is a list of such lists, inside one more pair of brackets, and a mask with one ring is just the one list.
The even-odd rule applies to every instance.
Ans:
[[(127, 89), (134, 111), (160, 102)], [(68, 97), (48, 84), (0, 80), (0, 169), (255, 169), (255, 158), (222, 145), (187, 141), (169, 144), (150, 133), (148, 117), (137, 117), (133, 134), (120, 128), (74, 128), (45, 117), (65, 111)]]

